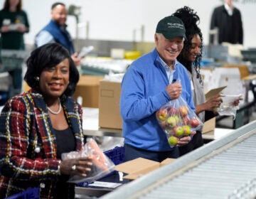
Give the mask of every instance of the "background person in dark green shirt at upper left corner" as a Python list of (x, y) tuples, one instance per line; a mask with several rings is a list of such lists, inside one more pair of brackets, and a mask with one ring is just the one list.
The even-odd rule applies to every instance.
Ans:
[[(23, 34), (28, 33), (29, 23), (21, 0), (4, 1), (4, 9), (0, 11), (0, 31), (3, 50), (25, 50)], [(21, 93), (22, 63), (9, 73), (14, 88), (10, 94), (12, 97)]]

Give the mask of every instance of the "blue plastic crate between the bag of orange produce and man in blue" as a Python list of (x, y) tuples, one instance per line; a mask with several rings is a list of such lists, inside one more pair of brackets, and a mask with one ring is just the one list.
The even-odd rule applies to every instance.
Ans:
[(116, 146), (114, 149), (105, 151), (104, 154), (110, 158), (115, 165), (124, 162), (124, 146)]

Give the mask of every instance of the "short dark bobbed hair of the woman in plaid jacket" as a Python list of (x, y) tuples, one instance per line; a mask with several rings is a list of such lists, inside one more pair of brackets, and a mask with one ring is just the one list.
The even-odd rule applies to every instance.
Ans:
[(38, 90), (39, 81), (37, 80), (37, 77), (40, 77), (43, 69), (54, 67), (66, 58), (68, 58), (70, 63), (70, 77), (69, 84), (64, 92), (64, 95), (73, 95), (79, 80), (78, 68), (75, 66), (73, 60), (71, 59), (68, 50), (66, 50), (63, 45), (58, 43), (48, 43), (32, 51), (30, 57), (26, 61), (28, 68), (26, 70), (24, 80), (27, 82), (28, 86)]

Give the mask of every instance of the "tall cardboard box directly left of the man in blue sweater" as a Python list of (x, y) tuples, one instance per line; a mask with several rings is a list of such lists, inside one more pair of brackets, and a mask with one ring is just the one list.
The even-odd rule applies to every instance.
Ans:
[(100, 81), (99, 126), (101, 128), (122, 129), (120, 92), (120, 82)]

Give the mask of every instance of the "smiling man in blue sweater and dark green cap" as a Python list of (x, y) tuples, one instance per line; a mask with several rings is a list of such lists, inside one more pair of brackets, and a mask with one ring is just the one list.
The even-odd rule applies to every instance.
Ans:
[(178, 158), (177, 147), (191, 141), (190, 136), (184, 136), (171, 148), (156, 120), (156, 111), (180, 96), (195, 110), (188, 73), (176, 60), (186, 39), (185, 32), (181, 19), (175, 16), (161, 19), (154, 36), (156, 48), (134, 60), (124, 75), (120, 112), (125, 161), (138, 157), (159, 162)]

